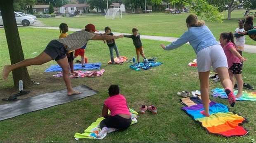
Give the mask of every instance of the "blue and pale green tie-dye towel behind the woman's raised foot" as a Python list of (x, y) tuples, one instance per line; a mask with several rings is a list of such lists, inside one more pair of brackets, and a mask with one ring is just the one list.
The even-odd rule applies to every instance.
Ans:
[[(224, 91), (224, 88), (215, 88), (211, 90), (213, 92), (213, 97), (220, 97), (220, 98), (228, 98), (227, 94)], [(237, 94), (237, 90), (234, 90), (234, 94)], [(236, 100), (240, 101), (256, 101), (256, 92), (247, 92), (243, 91), (243, 95)]]

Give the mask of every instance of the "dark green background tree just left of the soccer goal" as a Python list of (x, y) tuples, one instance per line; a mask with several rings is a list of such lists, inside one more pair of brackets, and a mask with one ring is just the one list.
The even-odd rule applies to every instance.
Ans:
[(111, 0), (87, 0), (87, 4), (90, 7), (90, 10), (92, 9), (107, 9), (107, 1), (108, 1), (108, 5), (110, 7), (110, 5), (112, 5)]

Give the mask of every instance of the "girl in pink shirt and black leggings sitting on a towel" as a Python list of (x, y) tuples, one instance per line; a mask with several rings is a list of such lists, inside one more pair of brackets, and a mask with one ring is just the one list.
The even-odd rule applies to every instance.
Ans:
[[(127, 129), (132, 122), (126, 98), (119, 94), (118, 85), (110, 85), (109, 96), (102, 108), (102, 117), (105, 119), (100, 122), (101, 131), (97, 138), (102, 138), (104, 134), (110, 132), (109, 128)], [(108, 114), (108, 111), (111, 114)]]

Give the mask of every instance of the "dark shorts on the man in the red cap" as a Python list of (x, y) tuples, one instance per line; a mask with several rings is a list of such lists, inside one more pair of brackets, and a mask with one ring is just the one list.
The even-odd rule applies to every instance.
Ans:
[(47, 55), (50, 55), (52, 60), (60, 60), (66, 57), (66, 48), (57, 40), (52, 40), (44, 50)]

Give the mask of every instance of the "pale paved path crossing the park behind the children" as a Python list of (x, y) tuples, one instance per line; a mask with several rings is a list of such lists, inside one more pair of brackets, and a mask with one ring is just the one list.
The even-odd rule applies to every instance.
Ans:
[[(34, 27), (34, 28), (59, 30), (58, 27)], [(78, 30), (81, 30), (81, 29), (69, 28), (69, 31), (78, 31)], [(104, 31), (99, 31), (99, 32), (104, 33)], [(131, 33), (114, 32), (114, 34), (115, 35), (122, 35), (122, 34), (130, 35)], [(174, 42), (178, 39), (175, 37), (162, 37), (162, 36), (149, 36), (149, 35), (140, 35), (140, 37), (142, 39), (159, 40), (159, 41), (165, 41), (165, 42)], [(189, 43), (187, 43), (187, 44), (189, 44)], [(249, 53), (256, 53), (256, 46), (255, 45), (245, 45), (244, 51), (249, 52)]]

